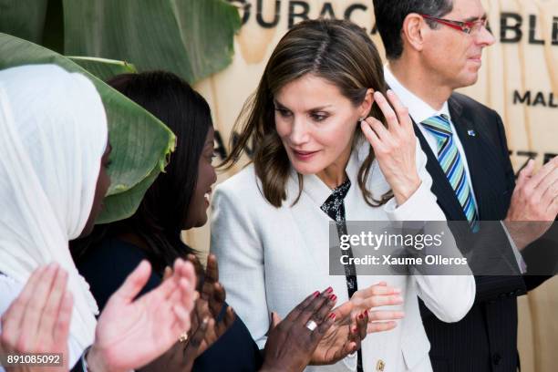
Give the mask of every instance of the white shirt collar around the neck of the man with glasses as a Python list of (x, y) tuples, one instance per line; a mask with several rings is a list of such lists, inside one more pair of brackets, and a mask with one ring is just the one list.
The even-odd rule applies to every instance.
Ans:
[(441, 114), (447, 115), (448, 118), (451, 119), (451, 116), (449, 115), (448, 101), (444, 102), (442, 109), (432, 109), (428, 103), (418, 98), (414, 93), (408, 90), (408, 88), (405, 88), (403, 84), (399, 82), (398, 78), (393, 75), (388, 65), (384, 66), (384, 76), (389, 88), (391, 88), (391, 90), (398, 95), (401, 102), (407, 106), (410, 117), (415, 120), (416, 123), (420, 123), (426, 119), (433, 116), (439, 116)]

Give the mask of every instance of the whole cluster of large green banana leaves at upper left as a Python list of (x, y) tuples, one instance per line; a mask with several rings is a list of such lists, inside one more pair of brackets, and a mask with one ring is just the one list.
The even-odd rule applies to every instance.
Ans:
[(104, 81), (124, 72), (165, 69), (193, 83), (217, 72), (232, 61), (233, 35), (241, 25), (237, 9), (223, 0), (3, 3), (0, 31), (9, 35), (0, 34), (0, 68), (55, 63), (87, 75), (98, 88), (114, 149), (113, 183), (98, 222), (129, 217), (164, 170), (175, 138)]

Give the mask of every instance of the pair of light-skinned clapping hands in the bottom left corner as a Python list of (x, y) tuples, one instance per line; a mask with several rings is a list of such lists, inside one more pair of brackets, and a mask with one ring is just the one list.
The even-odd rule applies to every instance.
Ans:
[[(113, 294), (98, 319), (88, 364), (95, 371), (127, 371), (141, 367), (176, 342), (190, 328), (195, 275), (191, 263), (177, 260), (174, 274), (149, 294), (135, 297), (150, 277), (150, 264), (140, 263)], [(62, 353), (67, 370), (67, 339), (72, 295), (67, 273), (56, 263), (38, 268), (22, 293), (2, 316), (4, 352)], [(8, 368), (43, 371), (44, 367)], [(53, 370), (49, 367), (48, 370)]]

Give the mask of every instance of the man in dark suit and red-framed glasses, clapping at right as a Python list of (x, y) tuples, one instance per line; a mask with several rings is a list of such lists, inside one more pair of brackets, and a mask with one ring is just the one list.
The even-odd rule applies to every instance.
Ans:
[[(389, 61), (387, 84), (415, 122), (439, 206), (449, 221), (469, 222), (471, 230), (480, 221), (502, 221), (500, 248), (525, 274), (476, 276), (475, 304), (458, 323), (442, 323), (422, 305), (432, 366), (514, 371), (516, 297), (548, 278), (526, 275), (533, 266), (522, 253), (532, 242), (534, 256), (556, 250), (555, 240), (541, 236), (558, 212), (558, 160), (536, 174), (531, 161), (516, 185), (500, 116), (454, 93), (477, 81), (482, 49), (494, 43), (480, 0), (374, 0), (374, 7)], [(545, 223), (524, 229), (518, 221)]]

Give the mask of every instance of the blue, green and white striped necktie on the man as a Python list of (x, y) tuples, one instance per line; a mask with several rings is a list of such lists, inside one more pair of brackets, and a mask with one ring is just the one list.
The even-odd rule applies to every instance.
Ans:
[(477, 230), (477, 222), (479, 221), (477, 207), (470, 190), (469, 176), (465, 170), (463, 160), (461, 160), (460, 151), (453, 140), (449, 118), (442, 114), (426, 119), (421, 124), (438, 141), (439, 165), (446, 173), (449, 184), (455, 191), (471, 227), (473, 227), (473, 230)]

